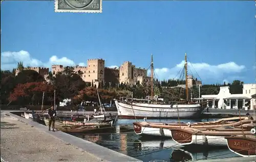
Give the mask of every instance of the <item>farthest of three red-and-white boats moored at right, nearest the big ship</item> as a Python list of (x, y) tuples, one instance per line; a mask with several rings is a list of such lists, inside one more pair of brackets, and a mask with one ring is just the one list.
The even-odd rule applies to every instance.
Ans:
[[(241, 125), (240, 117), (224, 118), (217, 121), (211, 122), (197, 122), (197, 123), (153, 123), (153, 122), (134, 122), (134, 131), (140, 136), (163, 136), (172, 137), (170, 128), (209, 128), (209, 127), (220, 127), (220, 126), (239, 126)], [(241, 117), (242, 124), (251, 123), (252, 117)], [(236, 122), (237, 121), (237, 122)]]

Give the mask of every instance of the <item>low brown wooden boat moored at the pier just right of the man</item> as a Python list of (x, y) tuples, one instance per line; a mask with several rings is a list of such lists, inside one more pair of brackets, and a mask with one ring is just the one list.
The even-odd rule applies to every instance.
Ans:
[[(44, 118), (46, 126), (49, 125), (49, 120)], [(109, 123), (97, 123), (92, 125), (70, 125), (61, 121), (55, 121), (55, 129), (67, 133), (99, 133), (113, 130), (113, 121)]]

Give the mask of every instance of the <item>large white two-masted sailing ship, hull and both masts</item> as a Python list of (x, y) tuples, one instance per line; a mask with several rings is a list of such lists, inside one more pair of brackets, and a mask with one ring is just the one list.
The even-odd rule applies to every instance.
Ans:
[[(173, 104), (154, 104), (121, 101), (115, 99), (119, 118), (126, 119), (159, 119), (159, 118), (197, 118), (202, 113), (199, 103), (188, 101), (187, 57), (185, 54), (186, 102)], [(151, 98), (153, 99), (153, 55), (151, 57)]]

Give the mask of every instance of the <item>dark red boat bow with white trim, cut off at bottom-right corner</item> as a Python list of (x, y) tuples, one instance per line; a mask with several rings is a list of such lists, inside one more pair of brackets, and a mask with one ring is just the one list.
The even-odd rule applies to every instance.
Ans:
[(225, 137), (229, 150), (243, 157), (255, 157), (256, 156), (255, 129), (252, 128), (251, 132), (254, 132), (254, 136)]

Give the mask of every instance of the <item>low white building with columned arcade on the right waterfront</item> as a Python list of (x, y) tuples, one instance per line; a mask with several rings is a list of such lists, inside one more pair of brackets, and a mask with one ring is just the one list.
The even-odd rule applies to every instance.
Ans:
[[(217, 95), (202, 95), (202, 99), (208, 100), (207, 106), (218, 109), (238, 109), (253, 110), (256, 93), (256, 84), (244, 84), (243, 94), (230, 94), (229, 87), (220, 87)], [(249, 106), (248, 106), (249, 105)]]

